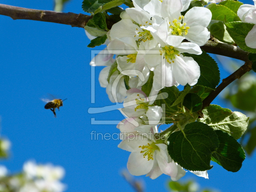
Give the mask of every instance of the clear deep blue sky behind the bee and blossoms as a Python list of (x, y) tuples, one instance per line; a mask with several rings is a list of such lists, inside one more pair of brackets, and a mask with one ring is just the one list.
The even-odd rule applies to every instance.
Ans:
[[(252, 1), (243, 1), (251, 3)], [(2, 4), (52, 10), (52, 0), (2, 0)], [(64, 12), (83, 13), (82, 0), (71, 0)], [(0, 163), (19, 172), (25, 161), (51, 162), (66, 170), (62, 180), (68, 192), (132, 191), (120, 176), (129, 152), (117, 148), (118, 140), (91, 140), (90, 133), (118, 133), (116, 125), (94, 125), (95, 120), (122, 120), (116, 110), (89, 114), (88, 108), (113, 105), (95, 68), (95, 103), (91, 103), (91, 50), (84, 29), (31, 20), (12, 20), (0, 15), (0, 116), (1, 135), (12, 142), (10, 158)], [(103, 49), (103, 47), (96, 48)], [(221, 70), (221, 78), (228, 73)], [(44, 109), (40, 99), (47, 93), (64, 101), (57, 118)], [(227, 105), (220, 99), (213, 102)], [(181, 180), (194, 179), (202, 187), (220, 191), (251, 191), (256, 188), (252, 165), (256, 155), (247, 157), (239, 172), (228, 172), (212, 162), (209, 180), (188, 172)], [(146, 191), (167, 191), (169, 177), (144, 180)]]

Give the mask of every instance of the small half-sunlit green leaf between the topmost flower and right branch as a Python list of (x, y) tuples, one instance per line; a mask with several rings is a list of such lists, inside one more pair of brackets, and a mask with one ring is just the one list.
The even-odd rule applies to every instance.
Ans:
[(218, 23), (213, 23), (211, 25), (210, 31), (211, 31), (211, 34), (221, 42), (228, 43), (228, 44), (235, 43), (234, 40), (228, 34), (226, 26), (222, 21), (219, 21)]

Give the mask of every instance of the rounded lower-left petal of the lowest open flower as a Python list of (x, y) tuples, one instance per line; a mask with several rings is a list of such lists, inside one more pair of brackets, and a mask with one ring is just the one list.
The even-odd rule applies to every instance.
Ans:
[(150, 172), (154, 164), (153, 160), (143, 158), (143, 153), (133, 152), (127, 162), (128, 171), (135, 176), (145, 175)]

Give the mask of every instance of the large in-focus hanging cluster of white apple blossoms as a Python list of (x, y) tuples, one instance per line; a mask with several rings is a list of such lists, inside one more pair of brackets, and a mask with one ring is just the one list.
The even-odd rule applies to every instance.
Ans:
[[(166, 141), (154, 136), (163, 110), (153, 103), (164, 87), (197, 83), (200, 68), (183, 53), (202, 53), (200, 46), (210, 38), (207, 26), (212, 13), (205, 7), (193, 7), (182, 15), (191, 0), (132, 2), (134, 8), (125, 9), (121, 20), (108, 31), (107, 48), (90, 64), (106, 66), (100, 72), (100, 85), (106, 87), (112, 102), (124, 102), (120, 111), (126, 118), (117, 128), (125, 136), (118, 147), (131, 152), (129, 172), (151, 179), (164, 173), (178, 180), (186, 171), (169, 156)], [(147, 95), (141, 87), (152, 73), (153, 85)], [(208, 178), (207, 171), (193, 173)]]

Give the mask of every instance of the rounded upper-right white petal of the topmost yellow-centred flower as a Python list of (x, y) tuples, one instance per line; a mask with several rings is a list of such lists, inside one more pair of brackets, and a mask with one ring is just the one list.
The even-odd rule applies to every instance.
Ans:
[(183, 23), (188, 27), (201, 25), (207, 27), (212, 19), (212, 12), (205, 7), (193, 7), (185, 14)]

